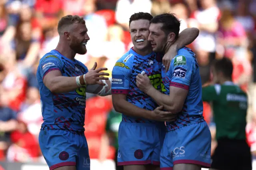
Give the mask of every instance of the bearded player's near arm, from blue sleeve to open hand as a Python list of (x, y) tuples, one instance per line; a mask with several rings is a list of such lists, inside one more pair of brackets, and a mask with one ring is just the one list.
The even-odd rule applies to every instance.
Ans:
[(99, 71), (106, 70), (106, 68), (96, 69), (97, 63), (94, 67), (84, 75), (77, 77), (62, 76), (63, 63), (61, 59), (55, 55), (44, 56), (39, 63), (38, 73), (42, 78), (44, 85), (52, 93), (67, 93), (90, 84), (102, 84), (100, 79), (108, 79), (106, 77), (99, 77), (100, 75), (108, 75), (108, 73), (99, 73)]

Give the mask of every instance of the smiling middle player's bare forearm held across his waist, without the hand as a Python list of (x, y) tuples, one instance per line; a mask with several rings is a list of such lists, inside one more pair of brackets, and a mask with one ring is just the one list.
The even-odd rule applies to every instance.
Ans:
[(118, 101), (118, 103), (115, 104), (115, 102), (113, 101), (113, 105), (114, 105), (114, 109), (119, 112), (122, 113), (126, 116), (131, 116), (131, 117), (143, 117), (145, 119), (152, 119), (150, 117), (150, 113), (152, 111), (148, 111), (146, 109), (142, 109), (140, 107), (137, 107), (136, 105), (126, 101), (126, 100), (121, 100)]

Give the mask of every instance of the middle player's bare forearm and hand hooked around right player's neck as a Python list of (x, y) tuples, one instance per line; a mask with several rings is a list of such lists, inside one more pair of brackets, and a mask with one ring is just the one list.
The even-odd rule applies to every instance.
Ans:
[(168, 48), (168, 51), (163, 57), (163, 65), (166, 72), (170, 67), (171, 60), (177, 55), (177, 51), (182, 47), (192, 43), (199, 35), (197, 28), (186, 28), (180, 34), (178, 39)]

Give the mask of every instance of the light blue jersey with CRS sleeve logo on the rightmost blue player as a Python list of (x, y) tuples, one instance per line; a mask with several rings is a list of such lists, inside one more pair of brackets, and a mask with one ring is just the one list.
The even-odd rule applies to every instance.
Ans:
[(167, 73), (164, 65), (162, 65), (162, 80), (167, 90), (164, 92), (166, 95), (170, 94), (170, 86), (188, 90), (188, 95), (182, 111), (178, 113), (177, 120), (166, 122), (168, 130), (204, 121), (199, 65), (196, 55), (190, 48), (184, 47), (178, 50), (178, 55), (172, 59)]

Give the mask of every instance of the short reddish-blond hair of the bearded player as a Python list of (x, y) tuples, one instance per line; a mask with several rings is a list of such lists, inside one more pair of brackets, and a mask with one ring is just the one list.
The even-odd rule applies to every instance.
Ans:
[(66, 26), (70, 26), (72, 24), (85, 24), (84, 18), (80, 17), (78, 15), (67, 15), (60, 19), (58, 22), (58, 33), (61, 34), (63, 31), (63, 28)]

